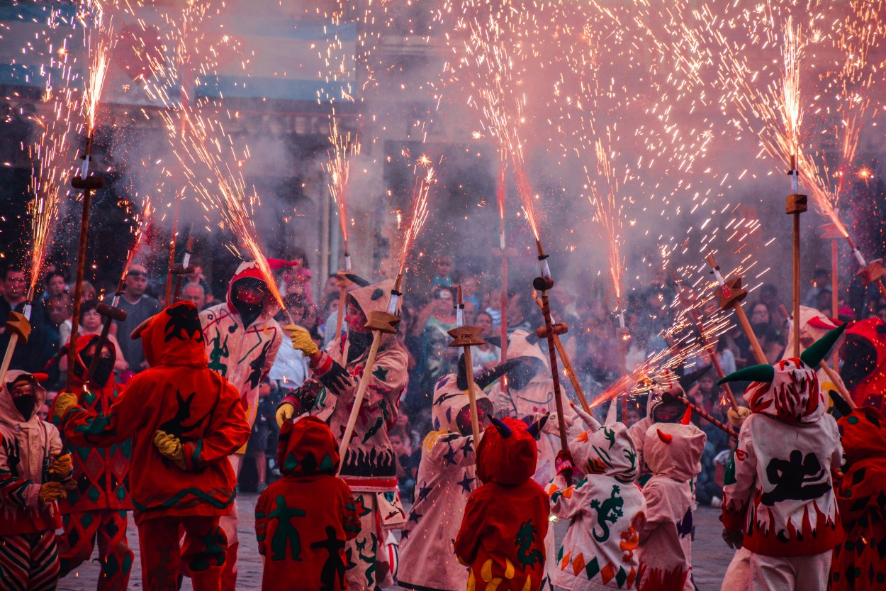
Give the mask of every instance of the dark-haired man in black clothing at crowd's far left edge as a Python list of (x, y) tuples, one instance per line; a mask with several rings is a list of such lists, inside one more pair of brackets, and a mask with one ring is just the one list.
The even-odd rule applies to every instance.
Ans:
[[(6, 351), (11, 332), (6, 328), (6, 321), (11, 311), (25, 312), (27, 297), (27, 280), (21, 267), (7, 267), (3, 273), (3, 297), (0, 297), (0, 351)], [(46, 343), (46, 315), (43, 312), (43, 300), (35, 298), (31, 311), (31, 335), (27, 343), (19, 344), (12, 354), (10, 369), (21, 369), (28, 373), (43, 371), (43, 366), (51, 356), (51, 347)]]

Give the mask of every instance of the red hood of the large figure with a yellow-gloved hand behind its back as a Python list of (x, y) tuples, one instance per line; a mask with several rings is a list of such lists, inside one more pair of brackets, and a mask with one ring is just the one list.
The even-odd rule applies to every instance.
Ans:
[(206, 345), (197, 306), (182, 301), (152, 316), (142, 333), (142, 348), (152, 367), (206, 367)]

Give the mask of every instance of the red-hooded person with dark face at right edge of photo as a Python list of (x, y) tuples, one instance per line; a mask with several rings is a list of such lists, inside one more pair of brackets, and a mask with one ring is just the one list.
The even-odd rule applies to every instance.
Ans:
[(878, 318), (853, 322), (840, 349), (840, 377), (857, 406), (886, 412), (886, 323)]

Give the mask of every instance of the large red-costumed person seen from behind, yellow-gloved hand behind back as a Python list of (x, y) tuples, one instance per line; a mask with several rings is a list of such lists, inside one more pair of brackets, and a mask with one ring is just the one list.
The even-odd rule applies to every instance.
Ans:
[[(175, 589), (180, 562), (195, 591), (221, 589), (237, 479), (228, 456), (249, 437), (240, 394), (207, 367), (203, 329), (190, 301), (175, 303), (133, 331), (150, 369), (137, 374), (104, 413), (58, 395), (55, 415), (69, 441), (120, 444), (132, 437), (129, 475), (144, 588)], [(184, 548), (175, 540), (185, 532)]]

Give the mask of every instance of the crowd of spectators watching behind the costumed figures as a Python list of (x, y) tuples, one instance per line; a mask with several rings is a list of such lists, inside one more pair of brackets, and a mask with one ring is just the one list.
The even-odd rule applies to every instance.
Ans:
[[(500, 362), (501, 358), (501, 286), (497, 279), (490, 280), (482, 273), (462, 273), (455, 268), (449, 256), (440, 256), (433, 262), (430, 280), (424, 288), (413, 288), (404, 298), (402, 321), (398, 338), (408, 351), (409, 382), (400, 402), (400, 416), (392, 425), (390, 433), (400, 460), (398, 477), (405, 498), (410, 498), (415, 482), (418, 458), (424, 436), (431, 430), (430, 406), (434, 383), (440, 376), (455, 372), (460, 351), (449, 347), (447, 331), (455, 327), (456, 288), (462, 289), (464, 321), (483, 328), (482, 338), (486, 345), (473, 350), (474, 371), (480, 372)], [(194, 302), (199, 309), (217, 303), (216, 297), (203, 273), (199, 262), (194, 272), (183, 276), (180, 297)], [(234, 269), (230, 269), (233, 274)], [(14, 266), (4, 269), (0, 281), (0, 318), (10, 311), (22, 311), (27, 292), (26, 274)], [(307, 266), (307, 256), (296, 252), (290, 264), (277, 271), (278, 288), (284, 296), (291, 318), (314, 337), (323, 347), (336, 336), (336, 320), (339, 305), (339, 283), (336, 275), (330, 275), (314, 284)], [(516, 285), (516, 284), (515, 284)], [(804, 304), (812, 304), (826, 315), (832, 315), (830, 278), (827, 271), (815, 272), (812, 286), (804, 297)], [(31, 314), (32, 333), (25, 344), (19, 344), (12, 366), (33, 372), (47, 371), (51, 375), (49, 390), (63, 387), (65, 360), (59, 351), (71, 335), (74, 321), (74, 286), (64, 268), (50, 265), (39, 286), (42, 295), (35, 297)], [(129, 332), (142, 320), (159, 311), (164, 296), (165, 277), (149, 277), (143, 264), (133, 264), (124, 282), (120, 308), (127, 311), (127, 319), (113, 322), (111, 342), (118, 354), (114, 374), (118, 382), (125, 383), (144, 370), (146, 361), (139, 342), (128, 338)], [(625, 370), (639, 366), (644, 359), (668, 346), (665, 330), (672, 326), (672, 303), (676, 287), (666, 280), (654, 280), (651, 285), (633, 290), (626, 299), (626, 328), (630, 340), (625, 355), (613, 354), (618, 317), (607, 310), (602, 299), (587, 294), (598, 293), (595, 289), (572, 290), (558, 285), (549, 293), (551, 307), (557, 318), (566, 322), (569, 332), (563, 335), (563, 343), (585, 392), (590, 398), (615, 382)], [(97, 290), (88, 282), (82, 287), (80, 310), (80, 334), (97, 334), (101, 331), (103, 317), (97, 312)], [(523, 289), (509, 291), (508, 332), (517, 329), (534, 331), (540, 326), (540, 311), (531, 293)], [(764, 284), (743, 303), (750, 323), (769, 362), (781, 359), (788, 343), (789, 321), (782, 311), (777, 288)], [(841, 319), (852, 319), (852, 311), (840, 303)], [(872, 298), (866, 308), (866, 316), (879, 316), (886, 320), (886, 303)], [(288, 323), (281, 312), (280, 320)], [(343, 323), (346, 331), (346, 323)], [(5, 349), (9, 335), (0, 329), (0, 349)], [(285, 340), (284, 340), (285, 341)], [(540, 343), (544, 346), (544, 343)], [(753, 365), (756, 359), (750, 351), (748, 338), (741, 327), (734, 327), (719, 337), (717, 355), (720, 365), (728, 374), (742, 366)], [(688, 385), (688, 397), (712, 415), (725, 420), (726, 406), (722, 392), (716, 385), (712, 369), (698, 372), (706, 361), (695, 359), (697, 382)], [(277, 403), (307, 378), (307, 359), (292, 350), (288, 341), (281, 348), (276, 364), (260, 391), (260, 410), (249, 446), (255, 458), (255, 472), (262, 488), (275, 472), (276, 422), (274, 412)], [(568, 390), (568, 389), (567, 389)], [(51, 398), (51, 397), (50, 397)], [(45, 412), (41, 409), (40, 412)], [(624, 421), (629, 425), (645, 416), (645, 402), (632, 400), (626, 407)], [(698, 485), (702, 502), (719, 499), (722, 463), (730, 442), (724, 434), (707, 422), (694, 419), (708, 433), (708, 447), (703, 457), (703, 473)], [(269, 471), (268, 471), (269, 466)], [(718, 484), (719, 482), (719, 484)]]

